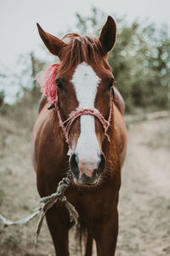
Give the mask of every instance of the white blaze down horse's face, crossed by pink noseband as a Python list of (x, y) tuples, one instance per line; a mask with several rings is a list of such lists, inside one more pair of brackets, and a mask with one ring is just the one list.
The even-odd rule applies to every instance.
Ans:
[[(94, 69), (85, 62), (79, 64), (72, 77), (78, 108), (94, 108), (94, 100), (99, 85), (99, 77)], [(76, 153), (79, 158), (80, 169), (88, 168), (94, 170), (99, 161), (99, 142), (95, 133), (95, 121), (93, 115), (82, 115), (80, 117), (80, 137), (78, 138)]]

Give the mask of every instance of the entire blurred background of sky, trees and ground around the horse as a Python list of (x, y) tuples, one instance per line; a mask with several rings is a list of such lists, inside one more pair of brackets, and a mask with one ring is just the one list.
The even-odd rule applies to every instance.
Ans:
[[(0, 1), (0, 213), (14, 219), (37, 207), (30, 148), (41, 93), (34, 77), (55, 60), (36, 23), (59, 38), (99, 36), (112, 15), (117, 39), (109, 63), (126, 102), (128, 130), (116, 255), (170, 255), (169, 9), (168, 0)], [(0, 225), (0, 255), (54, 255), (46, 225), (32, 250), (34, 227)], [(78, 255), (73, 238), (70, 247)]]

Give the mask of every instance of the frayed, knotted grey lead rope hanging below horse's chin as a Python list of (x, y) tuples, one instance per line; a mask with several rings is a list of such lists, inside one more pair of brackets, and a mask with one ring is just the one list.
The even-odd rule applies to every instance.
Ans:
[(56, 203), (57, 201), (61, 201), (69, 211), (71, 222), (74, 221), (75, 224), (77, 224), (78, 212), (75, 209), (75, 207), (69, 201), (67, 201), (64, 195), (65, 190), (71, 185), (71, 180), (72, 180), (72, 174), (70, 171), (70, 172), (67, 172), (67, 176), (63, 177), (62, 180), (59, 182), (56, 192), (52, 195), (42, 197), (39, 202), (42, 203), (43, 205), (35, 209), (34, 212), (32, 212), (26, 218), (11, 221), (4, 218), (3, 215), (0, 214), (0, 223), (2, 223), (4, 227), (8, 227), (9, 225), (21, 225), (21, 224), (28, 223), (32, 218), (35, 218), (37, 215), (40, 215), (39, 220), (37, 222), (37, 229), (36, 229), (36, 237), (35, 237), (35, 246), (36, 246), (37, 239), (42, 228), (43, 218), (48, 212), (48, 209), (54, 206), (54, 203)]

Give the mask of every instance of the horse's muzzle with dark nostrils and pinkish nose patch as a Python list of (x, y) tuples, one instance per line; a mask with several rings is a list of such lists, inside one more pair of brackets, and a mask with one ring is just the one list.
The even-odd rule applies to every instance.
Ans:
[(71, 154), (70, 168), (74, 182), (78, 186), (95, 186), (99, 182), (99, 176), (105, 170), (105, 155), (101, 153), (98, 161), (80, 160), (76, 153)]

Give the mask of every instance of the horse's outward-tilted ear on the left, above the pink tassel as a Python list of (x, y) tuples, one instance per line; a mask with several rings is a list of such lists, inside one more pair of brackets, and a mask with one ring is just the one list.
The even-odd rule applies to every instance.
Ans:
[(53, 55), (59, 56), (59, 51), (65, 46), (65, 43), (61, 41), (59, 38), (56, 38), (53, 35), (49, 34), (48, 32), (45, 32), (44, 30), (42, 30), (42, 27), (39, 26), (38, 23), (37, 23), (37, 28), (38, 28), (40, 37), (42, 38), (42, 41), (46, 45), (48, 50)]

